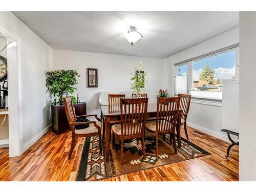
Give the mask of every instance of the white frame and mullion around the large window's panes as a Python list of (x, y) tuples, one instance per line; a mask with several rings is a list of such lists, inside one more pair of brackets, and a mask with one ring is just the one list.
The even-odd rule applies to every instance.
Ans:
[[(214, 52), (210, 52), (210, 53), (198, 56), (198, 57), (187, 59), (183, 62), (179, 62), (179, 63), (175, 64), (175, 66), (174, 66), (174, 70), (175, 70), (174, 76), (178, 76), (178, 73), (177, 73), (178, 66), (187, 64), (188, 92), (193, 91), (193, 76), (192, 76), (193, 75), (193, 64), (192, 64), (192, 62), (195, 60), (204, 59), (207, 57), (218, 55), (218, 54), (230, 51), (230, 50), (236, 50), (236, 67), (235, 67), (235, 78), (234, 79), (239, 79), (239, 44), (235, 44), (235, 45), (232, 45), (232, 46), (229, 46), (229, 47), (226, 47), (226, 48), (214, 51)], [(175, 93), (175, 88), (174, 88), (174, 93)], [(202, 103), (202, 104), (210, 104), (210, 105), (218, 105), (218, 106), (222, 105), (221, 104), (222, 100), (218, 100), (218, 99), (192, 97), (191, 101), (195, 101), (196, 103)]]

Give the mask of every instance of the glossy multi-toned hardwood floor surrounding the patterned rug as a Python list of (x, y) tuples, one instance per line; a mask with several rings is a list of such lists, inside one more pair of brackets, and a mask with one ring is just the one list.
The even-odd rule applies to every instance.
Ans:
[[(190, 127), (188, 135), (189, 141), (211, 155), (103, 181), (238, 181), (238, 146), (225, 159), (229, 143)], [(74, 181), (83, 142), (84, 138), (78, 138), (70, 161), (71, 133), (48, 132), (19, 157), (9, 158), (8, 149), (0, 148), (0, 181)]]

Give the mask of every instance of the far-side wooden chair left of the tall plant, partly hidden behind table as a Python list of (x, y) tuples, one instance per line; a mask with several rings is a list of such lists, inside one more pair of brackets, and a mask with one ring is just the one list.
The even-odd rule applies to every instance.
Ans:
[[(120, 99), (124, 99), (125, 94), (109, 94), (109, 112), (117, 112), (120, 111)], [(104, 119), (103, 119), (104, 122)], [(120, 123), (120, 118), (112, 119), (110, 121), (110, 127), (113, 124)], [(103, 125), (103, 136), (102, 138), (105, 137), (105, 126)], [(111, 138), (111, 130), (110, 130), (110, 138)]]

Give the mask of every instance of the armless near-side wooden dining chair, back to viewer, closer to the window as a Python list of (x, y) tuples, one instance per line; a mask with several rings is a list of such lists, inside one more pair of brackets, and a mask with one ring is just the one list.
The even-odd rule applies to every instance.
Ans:
[(147, 121), (145, 129), (156, 135), (156, 156), (158, 157), (158, 136), (170, 134), (170, 143), (174, 145), (174, 151), (177, 154), (175, 142), (175, 128), (179, 115), (180, 98), (179, 97), (158, 97), (157, 98), (157, 117), (154, 121)]

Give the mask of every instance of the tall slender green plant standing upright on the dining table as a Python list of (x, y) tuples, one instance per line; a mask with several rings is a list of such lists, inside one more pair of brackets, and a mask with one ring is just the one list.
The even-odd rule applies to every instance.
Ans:
[(141, 91), (145, 92), (145, 76), (147, 76), (147, 72), (142, 70), (142, 59), (140, 61), (139, 68), (134, 68), (137, 72), (132, 73), (132, 83), (131, 83), (131, 90), (133, 90), (133, 93), (136, 94), (136, 97), (140, 97)]

